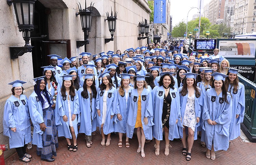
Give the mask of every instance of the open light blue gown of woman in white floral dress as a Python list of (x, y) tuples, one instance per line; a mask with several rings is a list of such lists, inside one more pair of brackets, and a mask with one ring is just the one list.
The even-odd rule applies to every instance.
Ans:
[[(188, 93), (183, 96), (181, 95), (181, 90), (182, 87), (179, 88), (179, 92), (180, 92), (180, 103), (181, 103), (181, 118), (184, 118), (184, 114), (185, 114), (185, 110), (186, 110), (186, 104), (187, 104), (187, 97), (188, 97)], [(194, 92), (194, 97), (195, 97), (195, 114), (196, 114), (196, 118), (199, 117), (201, 118), (201, 110), (203, 108), (203, 94), (202, 94), (202, 90), (200, 88), (198, 88), (198, 90), (200, 91), (200, 96), (197, 98), (196, 97), (196, 92)], [(196, 129), (194, 132), (194, 140), (197, 140), (197, 127), (200, 126), (200, 121), (197, 123), (196, 125)], [(183, 129), (181, 127), (179, 127), (179, 132), (180, 132), (180, 137), (183, 138)]]

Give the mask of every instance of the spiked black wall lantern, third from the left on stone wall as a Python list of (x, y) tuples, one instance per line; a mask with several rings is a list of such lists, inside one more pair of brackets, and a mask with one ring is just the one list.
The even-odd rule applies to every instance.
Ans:
[(114, 41), (114, 32), (116, 30), (116, 20), (117, 20), (117, 13), (118, 12), (115, 12), (114, 16), (113, 16), (113, 12), (112, 12), (112, 7), (111, 7), (111, 15), (109, 15), (109, 12), (106, 12), (106, 16), (107, 16), (107, 19), (108, 20), (108, 25), (109, 25), (109, 31), (110, 31), (110, 34), (111, 34), (111, 39), (105, 39), (105, 43), (108, 43), (110, 41)]

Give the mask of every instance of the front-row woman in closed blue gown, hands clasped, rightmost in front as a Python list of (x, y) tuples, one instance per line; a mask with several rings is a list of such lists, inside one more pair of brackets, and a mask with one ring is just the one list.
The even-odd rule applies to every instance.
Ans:
[[(215, 151), (227, 150), (229, 147), (229, 125), (232, 118), (232, 99), (224, 84), (222, 73), (215, 72), (213, 88), (205, 93), (203, 103), (203, 130), (207, 151), (206, 157), (215, 160)], [(203, 139), (204, 138), (204, 139)]]

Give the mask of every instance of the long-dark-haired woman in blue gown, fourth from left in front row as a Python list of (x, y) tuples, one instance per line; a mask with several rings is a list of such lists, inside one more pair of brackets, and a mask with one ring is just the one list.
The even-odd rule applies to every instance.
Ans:
[(85, 134), (86, 146), (91, 147), (93, 142), (92, 133), (96, 131), (96, 96), (97, 88), (95, 86), (94, 74), (82, 74), (85, 77), (83, 87), (78, 91), (81, 124), (79, 133)]

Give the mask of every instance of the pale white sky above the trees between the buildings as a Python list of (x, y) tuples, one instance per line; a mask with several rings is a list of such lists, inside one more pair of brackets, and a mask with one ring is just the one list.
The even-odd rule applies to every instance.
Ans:
[[(199, 9), (199, 6), (200, 6), (199, 5), (200, 0), (170, 0), (170, 2), (171, 2), (170, 14), (172, 16), (173, 27), (182, 20), (184, 20), (185, 23), (187, 22), (187, 14), (188, 14), (188, 11), (190, 10), (190, 7), (198, 7)], [(202, 0), (201, 13), (203, 13), (204, 4), (207, 4), (209, 2), (210, 0)], [(192, 20), (193, 15), (197, 13), (199, 13), (197, 9), (192, 9), (188, 15), (188, 21)]]

